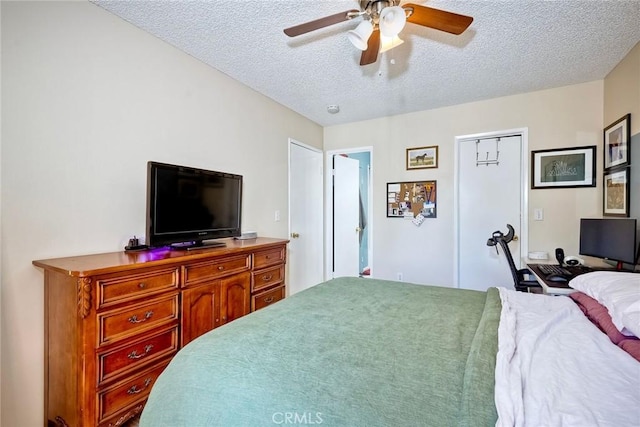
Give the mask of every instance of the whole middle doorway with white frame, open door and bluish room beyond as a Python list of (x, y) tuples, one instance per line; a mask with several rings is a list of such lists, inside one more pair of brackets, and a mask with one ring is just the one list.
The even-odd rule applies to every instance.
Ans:
[(371, 147), (327, 152), (327, 279), (372, 275), (372, 164)]

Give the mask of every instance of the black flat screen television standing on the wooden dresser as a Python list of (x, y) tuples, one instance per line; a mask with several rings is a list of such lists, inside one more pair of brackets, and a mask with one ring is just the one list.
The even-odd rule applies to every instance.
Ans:
[(147, 163), (146, 239), (150, 247), (222, 246), (240, 236), (242, 175)]

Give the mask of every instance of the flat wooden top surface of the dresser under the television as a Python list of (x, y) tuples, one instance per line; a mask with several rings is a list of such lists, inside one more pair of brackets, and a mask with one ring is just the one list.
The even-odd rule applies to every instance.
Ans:
[(121, 271), (147, 266), (152, 267), (163, 264), (206, 260), (241, 254), (253, 250), (267, 249), (269, 247), (277, 247), (288, 243), (288, 240), (271, 237), (258, 237), (247, 240), (221, 239), (221, 241), (223, 241), (226, 246), (190, 251), (163, 247), (134, 252), (109, 252), (35, 260), (33, 261), (33, 265), (73, 277), (85, 277), (116, 270)]

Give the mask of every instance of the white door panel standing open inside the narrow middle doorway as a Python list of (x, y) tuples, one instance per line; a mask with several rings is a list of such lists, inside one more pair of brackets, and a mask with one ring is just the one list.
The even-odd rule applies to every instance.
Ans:
[(357, 277), (360, 250), (360, 162), (333, 157), (333, 277)]

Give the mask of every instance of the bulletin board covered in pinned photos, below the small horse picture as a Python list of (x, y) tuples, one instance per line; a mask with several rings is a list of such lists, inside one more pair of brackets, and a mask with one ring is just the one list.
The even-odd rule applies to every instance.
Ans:
[(436, 218), (436, 181), (388, 182), (387, 217)]

